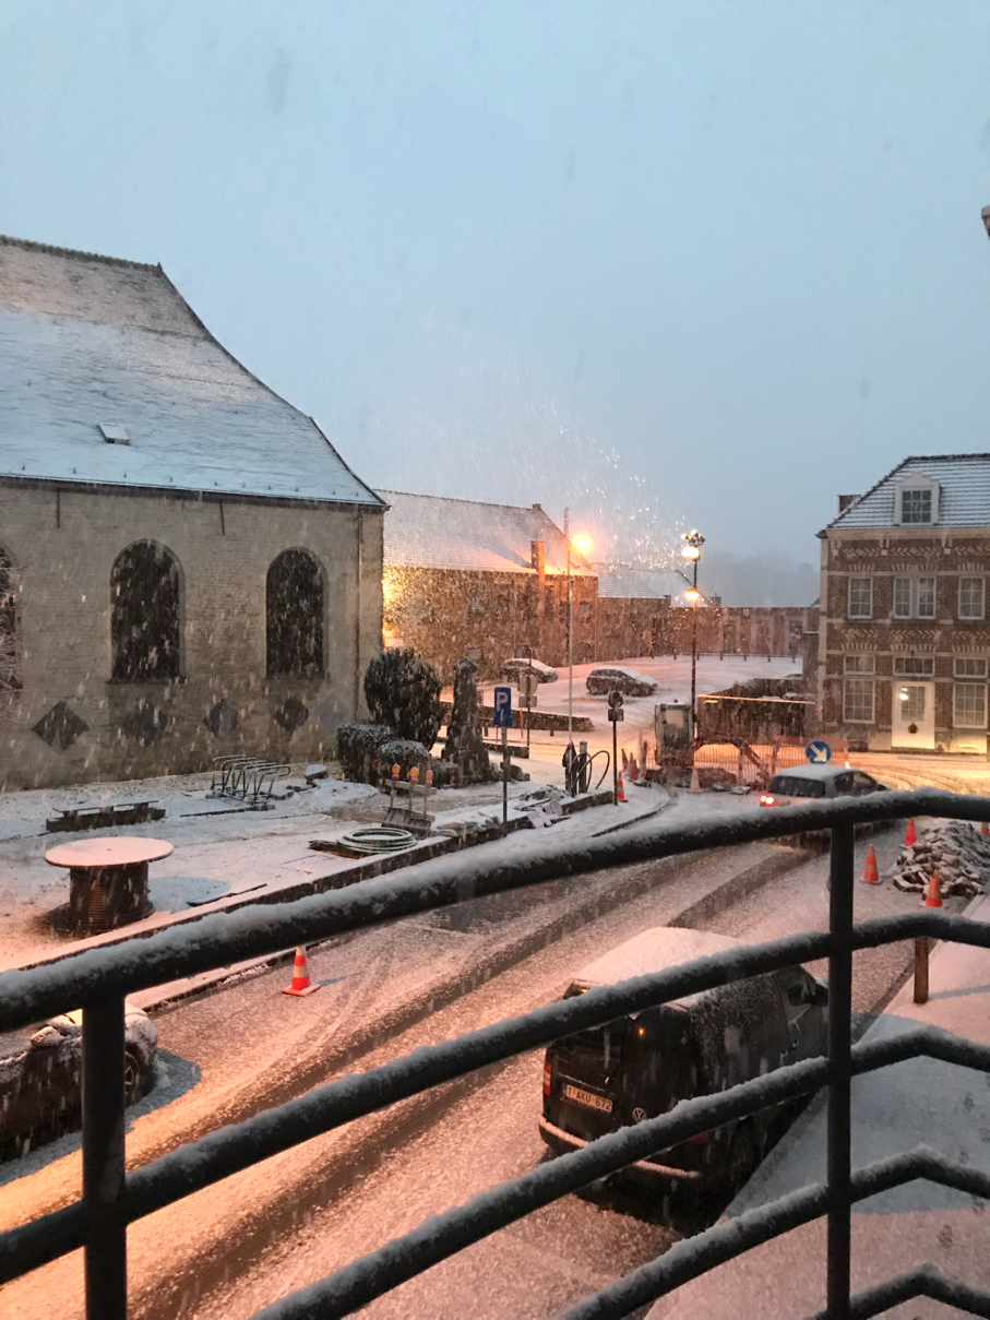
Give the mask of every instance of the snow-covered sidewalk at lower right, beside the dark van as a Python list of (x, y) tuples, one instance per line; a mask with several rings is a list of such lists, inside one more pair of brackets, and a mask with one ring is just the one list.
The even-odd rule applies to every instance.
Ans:
[[(966, 909), (990, 921), (990, 896)], [(924, 1023), (990, 1045), (990, 950), (941, 944), (931, 958), (931, 999), (913, 1003), (908, 982), (865, 1040)], [(726, 1212), (729, 1217), (825, 1181), (825, 1106), (816, 1104), (771, 1152)], [(853, 1168), (916, 1146), (990, 1173), (990, 1077), (912, 1059), (853, 1081)], [(990, 1291), (986, 1203), (915, 1181), (853, 1208), (853, 1291), (932, 1263), (949, 1279)], [(825, 1305), (825, 1221), (756, 1247), (663, 1298), (649, 1320), (792, 1320)], [(962, 1315), (924, 1298), (884, 1312), (888, 1320)]]

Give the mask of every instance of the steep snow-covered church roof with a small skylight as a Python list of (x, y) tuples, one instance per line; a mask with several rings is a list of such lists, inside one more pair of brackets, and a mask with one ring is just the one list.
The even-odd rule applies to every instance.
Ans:
[(160, 265), (0, 238), (0, 358), (3, 475), (381, 503)]

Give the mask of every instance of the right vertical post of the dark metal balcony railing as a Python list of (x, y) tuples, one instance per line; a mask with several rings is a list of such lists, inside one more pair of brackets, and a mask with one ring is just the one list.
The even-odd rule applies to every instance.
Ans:
[(832, 830), (829, 865), (828, 1316), (849, 1320), (853, 1065), (853, 826)]

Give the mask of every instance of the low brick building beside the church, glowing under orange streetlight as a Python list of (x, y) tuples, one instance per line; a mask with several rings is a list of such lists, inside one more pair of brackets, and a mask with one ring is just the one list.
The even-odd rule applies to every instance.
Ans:
[[(445, 682), (461, 656), (484, 678), (528, 648), (545, 664), (566, 664), (566, 541), (539, 504), (379, 494), (388, 504), (385, 645), (414, 647)], [(576, 550), (570, 570), (577, 663), (594, 659), (595, 574)]]

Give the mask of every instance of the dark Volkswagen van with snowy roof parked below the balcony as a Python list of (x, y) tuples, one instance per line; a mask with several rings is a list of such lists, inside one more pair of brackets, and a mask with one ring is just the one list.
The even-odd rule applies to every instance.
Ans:
[[(737, 946), (722, 935), (656, 927), (585, 968), (564, 998)], [(824, 1055), (826, 1005), (828, 987), (793, 966), (557, 1040), (544, 1063), (540, 1135), (557, 1154), (577, 1150), (681, 1100)], [(661, 1191), (734, 1193), (792, 1118), (771, 1110), (727, 1123), (657, 1151), (622, 1177)]]

